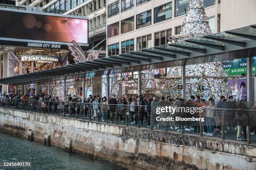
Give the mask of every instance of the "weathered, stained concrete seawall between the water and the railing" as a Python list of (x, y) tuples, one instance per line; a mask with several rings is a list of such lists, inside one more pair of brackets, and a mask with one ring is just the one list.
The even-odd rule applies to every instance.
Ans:
[(256, 146), (0, 108), (0, 130), (131, 170), (256, 170)]

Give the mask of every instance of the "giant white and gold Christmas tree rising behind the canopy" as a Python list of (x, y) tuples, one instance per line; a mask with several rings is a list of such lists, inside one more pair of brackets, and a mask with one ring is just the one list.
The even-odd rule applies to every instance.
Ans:
[[(190, 0), (185, 16), (179, 40), (185, 40), (198, 34), (211, 33), (205, 7), (202, 0)], [(181, 67), (169, 68), (166, 87), (163, 95), (181, 97), (177, 85), (181, 84)], [(190, 95), (200, 95), (206, 100), (213, 97), (218, 100), (224, 92), (227, 74), (224, 72), (221, 62), (211, 62), (186, 66), (186, 99)], [(199, 86), (203, 86), (203, 90)]]

